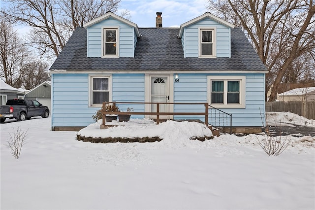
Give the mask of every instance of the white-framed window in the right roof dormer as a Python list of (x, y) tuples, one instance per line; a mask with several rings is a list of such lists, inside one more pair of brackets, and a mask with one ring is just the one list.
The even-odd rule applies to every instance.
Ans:
[(216, 57), (216, 29), (199, 29), (199, 57)]

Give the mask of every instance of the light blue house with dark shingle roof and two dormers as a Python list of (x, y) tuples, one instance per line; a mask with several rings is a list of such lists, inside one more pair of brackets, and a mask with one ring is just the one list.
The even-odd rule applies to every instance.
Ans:
[[(210, 12), (180, 28), (163, 28), (157, 15), (155, 28), (138, 28), (108, 12), (73, 32), (50, 69), (52, 130), (88, 126), (102, 102), (115, 101), (208, 102), (232, 114), (234, 131), (260, 132), (267, 69), (242, 30)], [(156, 110), (147, 104), (132, 107)], [(205, 107), (168, 104), (160, 109), (202, 112)], [(205, 120), (204, 115), (164, 117)], [(209, 124), (212, 118), (209, 114)]]

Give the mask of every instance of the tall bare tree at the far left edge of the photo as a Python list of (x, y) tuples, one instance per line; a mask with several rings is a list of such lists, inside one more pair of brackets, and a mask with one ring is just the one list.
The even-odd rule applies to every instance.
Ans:
[(25, 67), (29, 62), (26, 44), (13, 30), (5, 16), (0, 20), (0, 76), (12, 87), (23, 84)]

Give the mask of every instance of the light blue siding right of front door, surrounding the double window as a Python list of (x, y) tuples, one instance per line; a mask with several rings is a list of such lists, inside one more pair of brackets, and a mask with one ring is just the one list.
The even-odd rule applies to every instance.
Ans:
[[(207, 102), (207, 76), (226, 76), (226, 74), (179, 74), (179, 82), (174, 83), (174, 102)], [(232, 76), (233, 74), (230, 74)], [(235, 74), (246, 76), (246, 107), (245, 108), (220, 108), (232, 114), (232, 126), (260, 127), (263, 113), (265, 113), (265, 76), (260, 74)], [(204, 112), (204, 105), (174, 105), (174, 112)], [(203, 115), (180, 116), (174, 119), (200, 119)], [(209, 114), (209, 123), (211, 122)]]

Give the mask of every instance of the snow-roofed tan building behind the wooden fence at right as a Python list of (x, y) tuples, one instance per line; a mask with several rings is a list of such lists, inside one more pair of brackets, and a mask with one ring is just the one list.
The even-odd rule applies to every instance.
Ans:
[(315, 87), (295, 88), (277, 95), (280, 102), (311, 102), (315, 101)]

